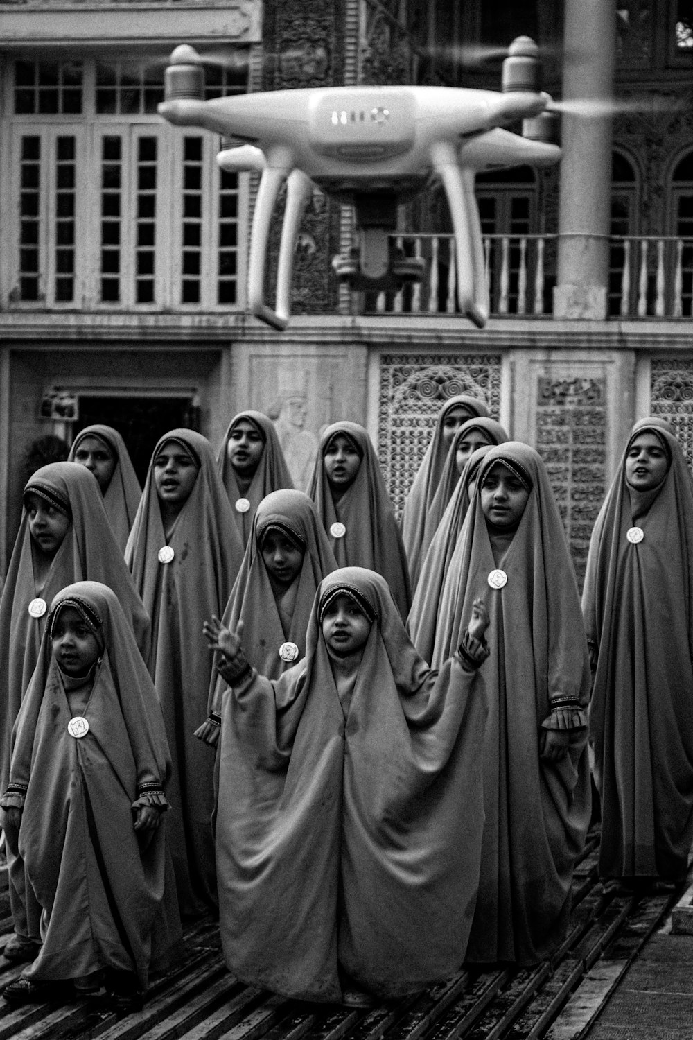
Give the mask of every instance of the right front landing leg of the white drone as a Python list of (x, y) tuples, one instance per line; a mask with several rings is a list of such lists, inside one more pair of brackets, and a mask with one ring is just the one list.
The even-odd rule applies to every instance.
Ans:
[[(455, 151), (452, 146), (438, 144), (432, 153), (433, 166), (443, 181), (443, 187), (448, 198), (452, 228), (455, 233), (455, 258), (457, 260), (457, 303), (462, 314), (479, 329), (486, 323), (486, 317), (477, 304), (475, 275), (475, 252), (473, 236), (478, 234), (477, 227), (470, 222), (470, 210), (462, 171), (457, 165)], [(483, 249), (479, 241), (479, 256)], [(483, 269), (483, 268), (482, 268)]]

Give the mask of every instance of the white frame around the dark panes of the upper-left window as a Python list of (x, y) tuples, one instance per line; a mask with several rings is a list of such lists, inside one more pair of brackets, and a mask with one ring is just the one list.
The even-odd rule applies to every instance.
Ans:
[[(37, 60), (41, 57), (37, 56)], [(151, 312), (180, 313), (242, 312), (245, 308), (246, 267), (249, 241), (250, 177), (238, 175), (238, 263), (236, 303), (217, 304), (219, 255), (220, 171), (216, 154), (220, 138), (196, 128), (172, 127), (157, 115), (139, 114), (131, 119), (118, 114), (96, 114), (96, 61), (98, 55), (83, 59), (83, 105), (81, 115), (15, 115), (14, 62), (9, 61), (1, 92), (0, 176), (11, 185), (11, 192), (0, 200), (0, 222), (11, 229), (11, 239), (0, 244), (0, 300), (10, 310), (80, 310), (100, 313)], [(41, 260), (39, 296), (19, 301), (12, 290), (19, 281), (19, 172), (23, 136), (42, 138), (41, 156)], [(75, 292), (71, 302), (54, 300), (55, 275), (55, 138), (76, 137), (76, 214), (75, 214)], [(101, 302), (101, 141), (119, 135), (124, 142), (124, 214), (121, 241), (121, 300)], [(136, 303), (135, 244), (136, 222), (136, 140), (141, 136), (157, 138), (156, 259), (155, 302)], [(199, 303), (182, 303), (183, 244), (183, 139), (199, 136), (203, 140), (203, 223)], [(46, 146), (50, 142), (50, 161)]]

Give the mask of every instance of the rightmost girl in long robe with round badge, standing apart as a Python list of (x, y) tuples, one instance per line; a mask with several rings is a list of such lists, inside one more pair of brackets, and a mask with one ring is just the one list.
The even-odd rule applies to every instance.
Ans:
[(672, 887), (693, 841), (693, 484), (669, 424), (633, 427), (583, 594), (599, 876)]

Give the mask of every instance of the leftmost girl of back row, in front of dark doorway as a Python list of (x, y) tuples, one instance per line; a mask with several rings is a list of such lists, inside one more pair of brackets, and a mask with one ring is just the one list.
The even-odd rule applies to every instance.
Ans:
[(124, 552), (142, 494), (125, 441), (111, 426), (85, 426), (75, 438), (69, 459), (96, 476), (108, 522)]

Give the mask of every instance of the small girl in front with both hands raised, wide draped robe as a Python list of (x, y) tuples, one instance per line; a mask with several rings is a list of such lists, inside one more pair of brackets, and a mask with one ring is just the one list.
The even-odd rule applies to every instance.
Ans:
[(432, 672), (380, 575), (318, 588), (304, 660), (270, 681), (212, 648), (222, 702), (217, 872), (234, 974), (308, 1000), (391, 998), (456, 971), (479, 878), (488, 650), (476, 603)]

